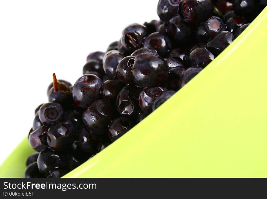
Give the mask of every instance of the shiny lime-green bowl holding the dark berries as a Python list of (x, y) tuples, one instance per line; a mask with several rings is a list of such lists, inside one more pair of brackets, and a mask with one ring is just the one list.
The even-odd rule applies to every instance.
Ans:
[[(64, 177), (267, 177), (267, 8), (160, 108)], [(25, 138), (0, 167), (23, 177)]]

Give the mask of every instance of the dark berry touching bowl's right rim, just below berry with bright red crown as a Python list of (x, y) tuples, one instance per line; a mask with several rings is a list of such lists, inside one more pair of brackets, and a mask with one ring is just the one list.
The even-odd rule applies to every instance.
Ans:
[(188, 65), (194, 68), (205, 68), (214, 58), (214, 55), (207, 48), (197, 48), (190, 53)]

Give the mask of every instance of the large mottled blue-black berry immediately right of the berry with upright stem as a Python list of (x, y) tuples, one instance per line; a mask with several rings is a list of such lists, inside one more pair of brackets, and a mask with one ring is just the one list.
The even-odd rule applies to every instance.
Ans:
[(100, 85), (103, 81), (96, 75), (80, 77), (73, 85), (73, 101), (79, 108), (88, 108), (100, 97)]

